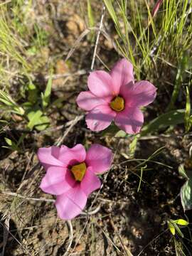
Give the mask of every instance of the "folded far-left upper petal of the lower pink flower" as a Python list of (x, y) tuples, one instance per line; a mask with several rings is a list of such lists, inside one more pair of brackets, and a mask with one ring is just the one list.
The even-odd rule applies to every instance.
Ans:
[(38, 159), (45, 169), (50, 166), (64, 166), (62, 161), (58, 160), (60, 148), (58, 146), (49, 146), (48, 148), (38, 149)]

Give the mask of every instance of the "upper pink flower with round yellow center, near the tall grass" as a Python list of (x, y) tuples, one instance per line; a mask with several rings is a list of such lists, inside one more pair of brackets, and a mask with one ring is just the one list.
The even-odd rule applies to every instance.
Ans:
[(123, 58), (110, 73), (94, 71), (87, 84), (90, 90), (80, 92), (77, 103), (88, 111), (85, 118), (88, 128), (101, 131), (114, 121), (129, 134), (140, 131), (144, 116), (139, 107), (154, 101), (156, 87), (148, 81), (134, 83), (132, 63)]

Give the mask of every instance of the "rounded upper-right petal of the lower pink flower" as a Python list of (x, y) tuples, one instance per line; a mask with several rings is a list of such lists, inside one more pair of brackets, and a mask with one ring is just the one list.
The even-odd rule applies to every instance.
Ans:
[(86, 164), (92, 167), (95, 174), (101, 174), (108, 169), (112, 163), (112, 151), (106, 146), (100, 144), (92, 144), (87, 151)]

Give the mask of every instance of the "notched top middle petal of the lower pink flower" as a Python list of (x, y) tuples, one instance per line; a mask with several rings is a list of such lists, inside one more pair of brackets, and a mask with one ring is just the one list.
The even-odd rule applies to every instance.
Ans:
[(62, 161), (65, 166), (72, 166), (73, 164), (82, 163), (85, 161), (86, 151), (82, 144), (77, 144), (73, 148), (62, 145), (60, 147), (59, 160)]

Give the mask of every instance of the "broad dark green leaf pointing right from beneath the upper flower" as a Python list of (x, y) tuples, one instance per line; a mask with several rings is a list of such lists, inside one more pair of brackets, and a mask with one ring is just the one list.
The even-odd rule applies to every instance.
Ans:
[(165, 114), (161, 114), (143, 127), (142, 135), (149, 134), (149, 132), (154, 132), (171, 125), (175, 126), (176, 124), (182, 124), (184, 122), (184, 117), (185, 110), (172, 110)]

